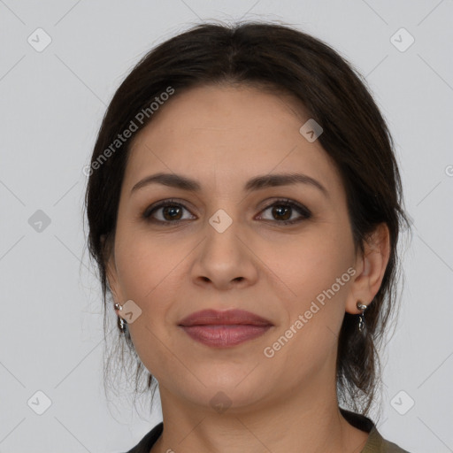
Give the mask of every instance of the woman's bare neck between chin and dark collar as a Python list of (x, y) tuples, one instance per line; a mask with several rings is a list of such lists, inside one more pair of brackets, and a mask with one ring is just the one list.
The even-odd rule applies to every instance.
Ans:
[(151, 452), (362, 451), (368, 434), (342, 417), (335, 382), (313, 381), (311, 386), (299, 383), (265, 402), (231, 406), (222, 413), (159, 388), (164, 432)]

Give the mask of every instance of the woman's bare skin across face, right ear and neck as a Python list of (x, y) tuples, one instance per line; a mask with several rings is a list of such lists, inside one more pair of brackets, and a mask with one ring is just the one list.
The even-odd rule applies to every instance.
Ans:
[[(309, 119), (288, 96), (250, 87), (204, 86), (176, 93), (134, 137), (123, 181), (108, 280), (115, 302), (133, 300), (142, 314), (128, 328), (134, 347), (159, 382), (164, 432), (152, 453), (299, 451), (359, 452), (368, 434), (338, 409), (335, 360), (345, 311), (369, 303), (388, 263), (388, 228), (355, 250), (340, 174), (319, 141), (299, 128)], [(152, 184), (150, 174), (179, 173), (199, 193)], [(308, 184), (246, 194), (247, 180), (305, 173)], [(151, 204), (177, 198), (179, 225), (142, 219)], [(283, 225), (265, 209), (279, 198), (302, 203), (310, 219)], [(233, 220), (219, 233), (209, 223), (222, 209)], [(173, 214), (174, 215), (174, 214)], [(154, 218), (171, 221), (162, 209)], [(285, 218), (287, 219), (287, 218)], [(323, 290), (356, 270), (273, 357), (272, 346)], [(264, 335), (230, 348), (192, 340), (178, 326), (188, 314), (240, 308), (271, 320)], [(119, 316), (123, 313), (117, 311)], [(358, 321), (358, 319), (357, 319)], [(231, 405), (220, 413), (211, 398)]]

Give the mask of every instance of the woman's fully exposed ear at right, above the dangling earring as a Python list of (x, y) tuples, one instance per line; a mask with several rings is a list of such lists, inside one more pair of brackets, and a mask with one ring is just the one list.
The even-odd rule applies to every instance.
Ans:
[(390, 257), (390, 233), (381, 223), (364, 243), (364, 253), (357, 252), (356, 277), (352, 282), (346, 311), (358, 314), (357, 302), (368, 305), (379, 291)]

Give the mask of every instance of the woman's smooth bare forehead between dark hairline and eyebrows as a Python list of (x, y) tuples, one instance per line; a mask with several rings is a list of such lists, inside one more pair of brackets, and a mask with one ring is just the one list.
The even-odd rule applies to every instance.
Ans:
[(256, 174), (303, 171), (339, 184), (319, 141), (299, 129), (310, 117), (288, 95), (259, 88), (203, 86), (176, 92), (135, 137), (124, 185), (150, 173), (190, 174), (207, 186), (213, 175), (230, 182)]

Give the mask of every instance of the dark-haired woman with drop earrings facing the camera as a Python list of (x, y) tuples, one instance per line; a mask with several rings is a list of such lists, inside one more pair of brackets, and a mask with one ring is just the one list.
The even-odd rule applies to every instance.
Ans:
[(130, 452), (405, 451), (366, 417), (401, 181), (325, 43), (248, 23), (158, 45), (106, 112), (86, 205), (104, 304), (161, 397)]

